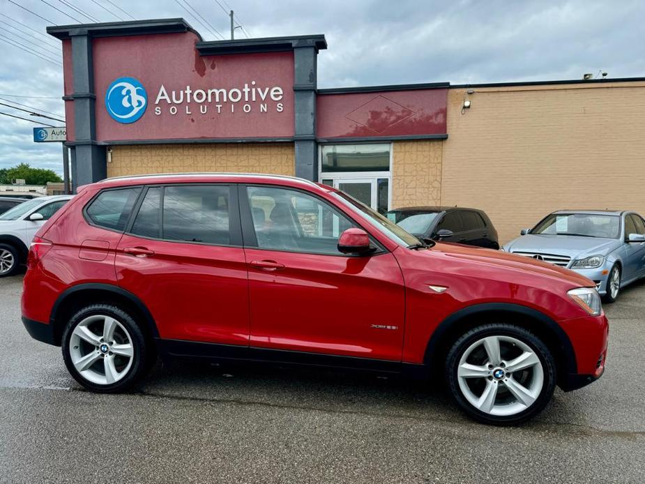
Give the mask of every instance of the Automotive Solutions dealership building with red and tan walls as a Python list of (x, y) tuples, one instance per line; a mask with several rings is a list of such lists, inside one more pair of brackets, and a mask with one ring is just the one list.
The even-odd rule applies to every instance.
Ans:
[(182, 19), (47, 31), (75, 186), (296, 175), (380, 211), (483, 209), (501, 241), (556, 209), (645, 214), (645, 78), (318, 89), (322, 35), (206, 42)]

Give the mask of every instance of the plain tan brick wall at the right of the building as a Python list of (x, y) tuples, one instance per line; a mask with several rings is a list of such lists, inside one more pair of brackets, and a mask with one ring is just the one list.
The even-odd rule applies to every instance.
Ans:
[(448, 93), (441, 203), (484, 209), (501, 242), (556, 209), (645, 214), (645, 83)]

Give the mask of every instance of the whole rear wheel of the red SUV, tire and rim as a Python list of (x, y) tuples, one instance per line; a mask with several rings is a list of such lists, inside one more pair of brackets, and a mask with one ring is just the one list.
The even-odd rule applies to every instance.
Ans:
[(101, 393), (117, 393), (135, 384), (152, 358), (135, 319), (107, 304), (77, 312), (65, 328), (62, 349), (76, 381)]

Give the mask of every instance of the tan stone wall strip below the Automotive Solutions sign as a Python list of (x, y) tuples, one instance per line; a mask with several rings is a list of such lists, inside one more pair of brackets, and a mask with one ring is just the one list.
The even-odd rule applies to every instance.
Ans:
[(112, 146), (107, 176), (183, 172), (293, 175), (294, 160), (291, 143)]

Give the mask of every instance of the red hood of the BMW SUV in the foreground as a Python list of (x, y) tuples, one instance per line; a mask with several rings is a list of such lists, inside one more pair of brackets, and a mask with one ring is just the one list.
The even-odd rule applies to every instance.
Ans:
[[(512, 273), (520, 271), (523, 278), (526, 278), (527, 275), (536, 275), (539, 278), (556, 278), (562, 282), (568, 282), (571, 287), (595, 287), (592, 280), (575, 271), (500, 250), (473, 248), (468, 245), (453, 243), (436, 243), (430, 250), (419, 251), (419, 254), (423, 254), (423, 252), (429, 255), (432, 252), (441, 252), (448, 257), (455, 257), (464, 262), (476, 263), (480, 265), (480, 269), (483, 269), (483, 271), (489, 269), (508, 269), (510, 272), (508, 274), (509, 280), (515, 280), (516, 277)], [(542, 285), (540, 283), (540, 286)]]

